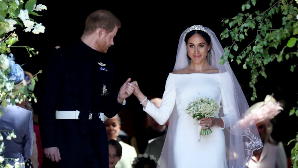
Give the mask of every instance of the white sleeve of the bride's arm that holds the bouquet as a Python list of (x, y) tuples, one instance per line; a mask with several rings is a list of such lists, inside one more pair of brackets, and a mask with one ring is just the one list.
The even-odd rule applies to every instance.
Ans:
[(224, 121), (224, 127), (229, 128), (235, 125), (237, 122), (236, 115), (236, 104), (234, 104), (234, 85), (232, 83), (231, 76), (228, 73), (221, 73), (222, 88), (221, 88), (221, 98), (224, 110), (224, 117), (221, 117)]

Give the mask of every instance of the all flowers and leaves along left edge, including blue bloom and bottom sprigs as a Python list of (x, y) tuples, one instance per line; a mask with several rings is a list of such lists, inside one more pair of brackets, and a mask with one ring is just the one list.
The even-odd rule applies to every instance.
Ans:
[[(16, 46), (15, 44), (19, 41), (19, 37), (14, 30), (17, 27), (21, 27), (25, 32), (32, 32), (34, 34), (43, 33), (45, 27), (42, 26), (41, 23), (34, 22), (29, 16), (41, 16), (35, 11), (44, 9), (46, 10), (47, 7), (42, 4), (36, 5), (36, 0), (28, 0), (25, 7), (23, 0), (0, 0), (0, 103), (2, 106), (0, 108), (0, 117), (3, 114), (2, 108), (5, 109), (8, 103), (15, 105), (16, 103), (22, 103), (26, 98), (28, 98), (29, 101), (32, 99), (34, 99), (35, 102), (37, 101), (33, 90), (36, 81), (38, 81), (36, 75), (42, 71), (33, 75), (29, 84), (26, 83), (25, 80), (21, 81), (22, 79), (17, 77), (21, 76), (24, 72), (20, 65), (14, 62), (11, 48), (23, 48), (30, 57), (32, 54), (38, 54), (38, 51), (35, 52), (34, 48)], [(18, 159), (6, 158), (1, 155), (2, 151), (5, 149), (1, 132), (7, 132), (9, 135), (6, 137), (6, 140), (16, 138), (13, 131), (0, 130), (0, 168), (23, 166), (24, 163), (20, 163)], [(7, 160), (13, 160), (15, 164), (10, 165)]]

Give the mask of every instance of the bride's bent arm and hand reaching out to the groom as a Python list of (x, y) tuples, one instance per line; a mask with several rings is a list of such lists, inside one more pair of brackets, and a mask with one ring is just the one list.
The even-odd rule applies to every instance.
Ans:
[(159, 108), (147, 100), (147, 97), (140, 91), (136, 81), (131, 82), (130, 85), (134, 87), (133, 94), (136, 95), (140, 103), (142, 103), (143, 110), (154, 118), (158, 124), (165, 124), (165, 122), (168, 121), (176, 103), (176, 90), (173, 75), (170, 74), (167, 78), (165, 91), (162, 96), (162, 103)]

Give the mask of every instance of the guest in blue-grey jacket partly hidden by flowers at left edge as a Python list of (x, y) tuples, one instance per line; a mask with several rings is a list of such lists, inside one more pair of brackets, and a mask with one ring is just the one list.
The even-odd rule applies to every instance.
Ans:
[[(24, 73), (23, 70), (22, 73)], [(26, 81), (24, 76), (25, 75), (23, 75), (21, 82), (16, 84), (15, 87), (29, 84), (29, 81)], [(28, 101), (28, 99), (26, 99), (26, 101)], [(27, 110), (24, 104), (25, 102), (16, 103), (16, 105), (8, 104), (6, 108), (0, 105), (0, 108), (4, 111), (0, 117), (0, 130), (2, 130), (0, 136), (3, 137), (5, 144), (5, 150), (1, 155), (2, 157), (9, 158), (8, 163), (10, 165), (16, 163), (13, 159), (18, 159), (17, 162), (19, 163), (26, 163), (32, 155), (34, 140), (33, 113)], [(4, 161), (4, 165), (5, 164), (7, 163)], [(20, 164), (19, 166), (20, 168), (25, 168), (24, 164)]]

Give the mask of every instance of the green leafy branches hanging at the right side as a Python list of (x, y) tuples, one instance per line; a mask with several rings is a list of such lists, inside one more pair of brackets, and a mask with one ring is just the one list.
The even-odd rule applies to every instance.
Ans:
[[(220, 63), (236, 59), (238, 65), (243, 69), (250, 69), (251, 81), (249, 86), (253, 89), (251, 100), (257, 98), (255, 84), (259, 75), (267, 78), (265, 65), (270, 62), (282, 62), (293, 57), (298, 57), (298, 0), (271, 0), (269, 8), (255, 10), (256, 0), (249, 0), (241, 6), (242, 11), (230, 19), (223, 19), (225, 30), (220, 34), (221, 39), (231, 39), (231, 46), (224, 48), (224, 56)], [(252, 12), (253, 11), (253, 12)], [(279, 21), (279, 22), (278, 22)], [(238, 44), (243, 40), (249, 41), (244, 48)], [(231, 50), (233, 49), (233, 50)], [(234, 58), (234, 55), (237, 55)], [(292, 62), (290, 71), (294, 71), (297, 63)], [(293, 108), (290, 115), (298, 116), (298, 109)], [(298, 134), (296, 139), (290, 140), (288, 144), (296, 141), (291, 151), (291, 161), (294, 168), (298, 168)]]

